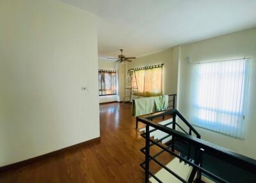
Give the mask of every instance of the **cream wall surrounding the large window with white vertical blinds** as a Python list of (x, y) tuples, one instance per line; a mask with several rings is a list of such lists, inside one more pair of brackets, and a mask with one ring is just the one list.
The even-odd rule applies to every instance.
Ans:
[(239, 31), (229, 35), (218, 36), (209, 40), (181, 46), (179, 63), (179, 111), (191, 121), (191, 70), (193, 63), (186, 63), (190, 56), (193, 62), (216, 61), (232, 58), (252, 57), (250, 70), (250, 86), (248, 95), (248, 115), (246, 116), (247, 130), (244, 140), (230, 138), (223, 134), (207, 131), (196, 127), (202, 139), (247, 155), (256, 159), (256, 29)]

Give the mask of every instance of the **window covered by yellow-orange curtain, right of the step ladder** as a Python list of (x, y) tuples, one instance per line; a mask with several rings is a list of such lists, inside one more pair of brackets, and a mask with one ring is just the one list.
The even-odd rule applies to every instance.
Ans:
[(140, 96), (163, 95), (163, 65), (135, 68), (134, 70)]

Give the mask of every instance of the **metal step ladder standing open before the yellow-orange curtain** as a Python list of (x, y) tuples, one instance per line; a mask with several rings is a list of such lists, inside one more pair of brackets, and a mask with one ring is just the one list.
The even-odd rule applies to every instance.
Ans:
[(127, 72), (127, 79), (126, 79), (126, 85), (124, 89), (124, 102), (131, 102), (131, 100), (134, 99), (134, 95), (136, 96), (135, 99), (140, 98), (140, 93), (138, 90), (138, 84), (137, 84), (137, 79), (135, 75), (134, 70), (128, 70)]

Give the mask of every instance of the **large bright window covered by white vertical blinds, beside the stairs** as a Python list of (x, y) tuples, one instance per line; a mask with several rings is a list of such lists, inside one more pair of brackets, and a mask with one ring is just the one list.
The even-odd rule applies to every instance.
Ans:
[(198, 127), (244, 138), (248, 61), (195, 65), (193, 120)]

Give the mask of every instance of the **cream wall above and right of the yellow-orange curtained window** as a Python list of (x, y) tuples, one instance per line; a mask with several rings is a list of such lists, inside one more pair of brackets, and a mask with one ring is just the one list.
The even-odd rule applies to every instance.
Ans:
[(177, 77), (178, 77), (178, 47), (173, 47), (165, 51), (148, 54), (136, 58), (128, 63), (128, 69), (147, 67), (150, 65), (163, 65), (163, 94), (177, 93)]

